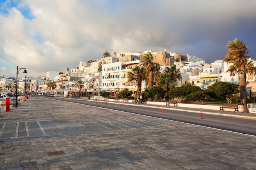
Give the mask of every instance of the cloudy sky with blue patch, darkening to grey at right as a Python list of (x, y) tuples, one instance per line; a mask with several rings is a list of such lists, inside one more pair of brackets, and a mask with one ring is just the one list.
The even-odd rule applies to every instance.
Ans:
[(106, 50), (167, 49), (210, 63), (235, 38), (256, 59), (255, 9), (256, 0), (0, 0), (0, 75), (66, 72)]

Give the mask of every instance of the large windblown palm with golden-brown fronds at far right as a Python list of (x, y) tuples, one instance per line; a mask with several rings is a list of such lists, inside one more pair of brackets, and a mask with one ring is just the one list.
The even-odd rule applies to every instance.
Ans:
[[(227, 51), (227, 55), (225, 58), (225, 62), (231, 63), (232, 65), (229, 66), (229, 69), (231, 73), (234, 72), (242, 72), (243, 77), (239, 78), (239, 85), (240, 85), (240, 103), (246, 105), (247, 104), (247, 96), (246, 96), (246, 73), (255, 73), (254, 72), (254, 66), (252, 66), (252, 63), (248, 61), (250, 58), (249, 51), (247, 49), (248, 44), (244, 44), (242, 41), (240, 41), (238, 38), (236, 38), (234, 41), (229, 41), (227, 46), (225, 46)], [(244, 111), (247, 112), (247, 106), (244, 107)]]

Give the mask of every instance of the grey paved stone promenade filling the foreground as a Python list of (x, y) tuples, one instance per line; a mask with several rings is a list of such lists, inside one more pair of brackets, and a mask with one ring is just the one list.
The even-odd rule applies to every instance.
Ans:
[(0, 117), (0, 170), (255, 170), (256, 137), (31, 97)]

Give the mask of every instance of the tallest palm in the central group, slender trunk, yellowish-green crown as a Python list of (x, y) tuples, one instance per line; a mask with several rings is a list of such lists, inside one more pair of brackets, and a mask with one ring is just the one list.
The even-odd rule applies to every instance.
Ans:
[(153, 62), (153, 56), (150, 52), (144, 54), (141, 57), (142, 65), (145, 66), (147, 74), (148, 74), (148, 88), (151, 89), (153, 87), (153, 71), (157, 66), (156, 62)]

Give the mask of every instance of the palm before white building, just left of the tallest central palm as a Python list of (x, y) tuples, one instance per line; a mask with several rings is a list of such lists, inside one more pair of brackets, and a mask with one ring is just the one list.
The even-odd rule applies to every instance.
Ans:
[(128, 82), (135, 82), (137, 86), (137, 99), (139, 98), (139, 93), (141, 93), (141, 84), (145, 80), (146, 69), (144, 67), (135, 66), (132, 71), (127, 73)]

